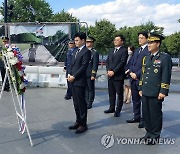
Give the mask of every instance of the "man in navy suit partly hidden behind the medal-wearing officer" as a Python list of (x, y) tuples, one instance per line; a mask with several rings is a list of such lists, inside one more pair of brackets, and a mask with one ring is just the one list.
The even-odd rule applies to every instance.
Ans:
[(129, 74), (131, 76), (131, 92), (133, 101), (133, 113), (134, 117), (127, 120), (127, 123), (139, 122), (138, 128), (144, 127), (143, 118), (141, 116), (141, 97), (138, 91), (139, 79), (142, 72), (142, 59), (149, 54), (147, 47), (148, 34), (146, 32), (139, 32), (138, 39), (140, 48), (137, 48), (132, 57), (131, 66), (129, 68)]

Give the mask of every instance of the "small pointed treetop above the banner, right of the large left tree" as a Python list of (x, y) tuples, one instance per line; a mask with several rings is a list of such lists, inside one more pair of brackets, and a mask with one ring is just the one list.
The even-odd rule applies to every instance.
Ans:
[(70, 14), (69, 12), (65, 12), (63, 9), (61, 12), (55, 13), (52, 16), (51, 21), (52, 22), (78, 22), (79, 19), (77, 19), (76, 17), (73, 17), (72, 14)]

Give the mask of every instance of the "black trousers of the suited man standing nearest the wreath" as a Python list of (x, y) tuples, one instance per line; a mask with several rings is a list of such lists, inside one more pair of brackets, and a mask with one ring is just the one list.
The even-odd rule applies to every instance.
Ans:
[(76, 122), (81, 126), (86, 126), (87, 104), (85, 101), (85, 87), (74, 86), (72, 83), (72, 96), (76, 113)]

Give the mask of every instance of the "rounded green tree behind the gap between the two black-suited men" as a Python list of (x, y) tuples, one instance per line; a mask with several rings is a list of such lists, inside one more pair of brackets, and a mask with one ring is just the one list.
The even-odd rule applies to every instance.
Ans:
[(96, 21), (95, 26), (89, 27), (89, 35), (96, 39), (95, 48), (101, 54), (107, 54), (109, 48), (113, 47), (115, 33), (115, 25), (106, 19)]

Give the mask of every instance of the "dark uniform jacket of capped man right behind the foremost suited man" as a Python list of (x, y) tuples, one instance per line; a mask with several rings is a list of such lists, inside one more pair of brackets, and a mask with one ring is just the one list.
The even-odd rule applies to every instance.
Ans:
[(99, 65), (99, 53), (95, 49), (91, 49), (91, 60), (86, 70), (87, 78), (96, 77)]

